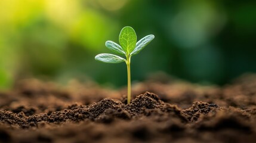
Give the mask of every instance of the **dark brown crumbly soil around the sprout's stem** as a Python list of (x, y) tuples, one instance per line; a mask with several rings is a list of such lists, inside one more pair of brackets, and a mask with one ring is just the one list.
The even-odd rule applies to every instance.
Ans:
[(256, 76), (222, 87), (158, 77), (104, 89), (27, 79), (0, 92), (0, 142), (255, 142)]

